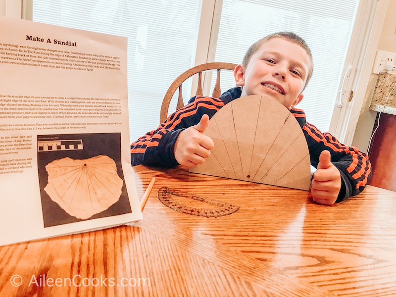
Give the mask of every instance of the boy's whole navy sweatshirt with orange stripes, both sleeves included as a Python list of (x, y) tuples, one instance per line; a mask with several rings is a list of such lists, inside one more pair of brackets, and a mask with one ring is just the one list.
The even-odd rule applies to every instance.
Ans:
[[(219, 98), (193, 97), (186, 106), (172, 113), (157, 129), (148, 132), (131, 145), (132, 165), (144, 164), (159, 167), (179, 165), (173, 154), (179, 133), (198, 124), (203, 114), (207, 114), (210, 119), (225, 104), (240, 97), (239, 87), (228, 90)], [(368, 156), (357, 148), (341, 144), (330, 133), (322, 133), (314, 125), (307, 123), (302, 109), (293, 108), (290, 112), (303, 130), (311, 165), (316, 168), (320, 153), (328, 150), (331, 153), (332, 163), (340, 170), (342, 187), (337, 202), (359, 194), (371, 177), (371, 164)]]

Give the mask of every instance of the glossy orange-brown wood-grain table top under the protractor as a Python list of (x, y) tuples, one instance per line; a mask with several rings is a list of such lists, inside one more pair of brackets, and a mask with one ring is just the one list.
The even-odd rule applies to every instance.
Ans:
[[(142, 221), (0, 247), (0, 296), (396, 296), (394, 192), (368, 186), (324, 206), (305, 191), (184, 168), (134, 170), (139, 197), (156, 177)], [(161, 187), (240, 209), (181, 213), (157, 198)]]

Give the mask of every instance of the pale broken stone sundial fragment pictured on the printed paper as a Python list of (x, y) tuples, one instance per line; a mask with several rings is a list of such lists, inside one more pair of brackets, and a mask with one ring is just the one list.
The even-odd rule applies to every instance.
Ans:
[(54, 160), (46, 166), (49, 197), (68, 214), (88, 219), (118, 201), (124, 182), (113, 159), (99, 155), (74, 160)]

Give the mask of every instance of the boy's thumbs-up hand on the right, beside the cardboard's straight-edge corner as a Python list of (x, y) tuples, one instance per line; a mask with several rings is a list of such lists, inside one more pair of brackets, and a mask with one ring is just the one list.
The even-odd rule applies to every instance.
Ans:
[(331, 205), (336, 202), (341, 189), (341, 174), (331, 162), (330, 152), (322, 151), (318, 168), (311, 182), (311, 196), (320, 204)]

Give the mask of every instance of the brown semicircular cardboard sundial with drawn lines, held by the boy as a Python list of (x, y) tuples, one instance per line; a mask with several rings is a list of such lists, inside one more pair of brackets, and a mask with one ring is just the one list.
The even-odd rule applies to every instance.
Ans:
[(235, 99), (216, 112), (204, 134), (214, 148), (190, 172), (309, 191), (304, 134), (293, 114), (275, 99)]

